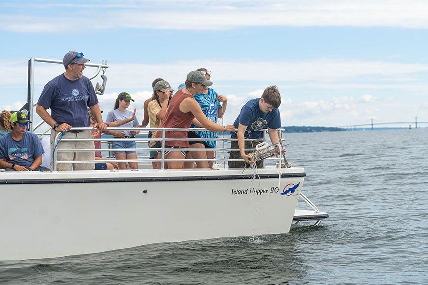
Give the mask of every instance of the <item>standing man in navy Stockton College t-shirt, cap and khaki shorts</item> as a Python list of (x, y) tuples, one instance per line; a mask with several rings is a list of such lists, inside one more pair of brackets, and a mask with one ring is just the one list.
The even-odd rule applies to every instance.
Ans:
[[(94, 128), (104, 131), (98, 99), (89, 78), (83, 76), (85, 63), (89, 59), (83, 53), (70, 51), (62, 61), (65, 72), (49, 81), (37, 102), (36, 112), (52, 127), (51, 152), (55, 149), (94, 149), (93, 141), (60, 141), (55, 137), (59, 132), (66, 132), (64, 139), (92, 139), (91, 131), (70, 130), (72, 127), (89, 127), (88, 107), (96, 120)], [(51, 114), (47, 109), (51, 109)], [(56, 147), (56, 148), (55, 148)], [(57, 152), (57, 160), (95, 160), (94, 151), (90, 152)], [(53, 169), (53, 160), (51, 161)], [(60, 163), (57, 170), (93, 170), (94, 163)]]

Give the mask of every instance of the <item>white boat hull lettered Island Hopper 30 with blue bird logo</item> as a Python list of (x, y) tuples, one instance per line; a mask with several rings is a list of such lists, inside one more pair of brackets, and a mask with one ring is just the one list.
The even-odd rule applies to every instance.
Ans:
[[(147, 146), (147, 137), (133, 140), (137, 150)], [(138, 170), (0, 172), (0, 260), (288, 233), (293, 220), (328, 217), (309, 200), (313, 210), (296, 210), (299, 197), (307, 199), (303, 168), (272, 165), (255, 176), (224, 164), (153, 170), (147, 157), (138, 161)]]

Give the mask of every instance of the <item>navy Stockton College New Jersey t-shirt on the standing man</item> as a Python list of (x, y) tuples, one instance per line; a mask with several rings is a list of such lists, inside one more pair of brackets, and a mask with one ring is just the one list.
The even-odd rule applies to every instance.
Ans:
[(88, 107), (98, 104), (98, 99), (89, 78), (69, 80), (61, 74), (45, 85), (37, 104), (50, 108), (51, 117), (58, 124), (89, 127)]

